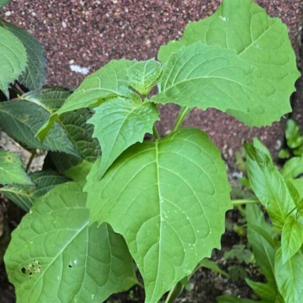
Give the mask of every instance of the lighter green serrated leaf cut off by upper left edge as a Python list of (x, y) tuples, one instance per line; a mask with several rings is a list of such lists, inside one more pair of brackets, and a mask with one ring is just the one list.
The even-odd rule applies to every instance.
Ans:
[(26, 50), (20, 40), (0, 26), (0, 90), (9, 98), (9, 84), (14, 82), (27, 66)]

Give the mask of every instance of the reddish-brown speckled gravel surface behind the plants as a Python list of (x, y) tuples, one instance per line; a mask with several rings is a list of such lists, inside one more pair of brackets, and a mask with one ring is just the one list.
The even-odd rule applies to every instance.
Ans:
[[(160, 45), (182, 35), (184, 26), (211, 15), (220, 0), (90, 0), (23, 1), (6, 7), (5, 18), (32, 32), (44, 45), (48, 58), (48, 85), (77, 86), (84, 75), (72, 72), (71, 64), (93, 72), (111, 59), (147, 59), (157, 56)], [(301, 0), (259, 0), (272, 16), (287, 24), (298, 53)], [(176, 106), (162, 109), (161, 133), (169, 131)], [(283, 142), (284, 119), (272, 127), (250, 130), (216, 110), (194, 110), (186, 125), (207, 131), (232, 163), (234, 151), (244, 139), (258, 136), (272, 151)]]

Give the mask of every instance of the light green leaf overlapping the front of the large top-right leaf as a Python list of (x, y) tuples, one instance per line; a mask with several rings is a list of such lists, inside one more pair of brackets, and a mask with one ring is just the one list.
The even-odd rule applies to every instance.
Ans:
[(201, 42), (172, 54), (163, 68), (159, 91), (151, 101), (216, 108), (249, 126), (271, 124), (291, 111), (289, 95), (287, 103), (277, 106), (275, 88), (265, 85), (255, 66), (234, 51)]

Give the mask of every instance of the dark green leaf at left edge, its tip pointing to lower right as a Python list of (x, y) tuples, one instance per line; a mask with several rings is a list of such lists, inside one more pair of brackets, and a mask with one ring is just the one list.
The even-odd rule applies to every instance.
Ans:
[(49, 113), (44, 108), (27, 100), (0, 103), (0, 127), (9, 136), (31, 148), (62, 151), (79, 157), (68, 134), (58, 122), (43, 143), (35, 137), (48, 117)]

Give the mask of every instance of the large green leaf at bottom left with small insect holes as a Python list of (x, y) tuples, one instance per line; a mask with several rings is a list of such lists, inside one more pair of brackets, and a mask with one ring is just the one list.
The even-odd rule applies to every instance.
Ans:
[(135, 282), (123, 238), (88, 226), (86, 194), (66, 183), (36, 201), (12, 233), (5, 255), (17, 301), (101, 302)]

